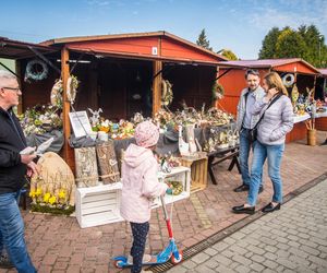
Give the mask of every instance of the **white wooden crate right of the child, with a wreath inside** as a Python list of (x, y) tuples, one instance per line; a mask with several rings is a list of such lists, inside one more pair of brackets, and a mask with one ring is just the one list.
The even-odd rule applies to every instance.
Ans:
[[(171, 170), (171, 173), (159, 173), (158, 178), (160, 182), (167, 181), (180, 181), (183, 186), (183, 192), (178, 195), (165, 195), (166, 204), (177, 202), (182, 199), (190, 198), (191, 192), (191, 168), (187, 167), (175, 167)], [(158, 207), (161, 205), (160, 198), (156, 198), (152, 205), (152, 209)]]

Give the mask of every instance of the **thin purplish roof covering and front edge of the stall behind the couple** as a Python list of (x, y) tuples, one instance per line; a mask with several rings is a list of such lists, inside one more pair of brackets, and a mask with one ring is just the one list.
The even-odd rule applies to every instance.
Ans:
[[(238, 61), (221, 61), (221, 67), (239, 67), (239, 68), (253, 68), (253, 69), (272, 69), (277, 67), (283, 67), (291, 63), (300, 62), (312, 70), (313, 74), (319, 74), (320, 72), (301, 58), (284, 58), (284, 59), (263, 59), (263, 60), (238, 60)], [(294, 71), (290, 71), (294, 72)]]

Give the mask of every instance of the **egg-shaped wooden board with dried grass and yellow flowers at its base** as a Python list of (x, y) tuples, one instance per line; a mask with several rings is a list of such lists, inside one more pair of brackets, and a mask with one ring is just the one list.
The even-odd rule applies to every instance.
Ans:
[(71, 168), (56, 153), (45, 153), (37, 162), (39, 174), (31, 179), (32, 211), (71, 214), (75, 205), (75, 179)]

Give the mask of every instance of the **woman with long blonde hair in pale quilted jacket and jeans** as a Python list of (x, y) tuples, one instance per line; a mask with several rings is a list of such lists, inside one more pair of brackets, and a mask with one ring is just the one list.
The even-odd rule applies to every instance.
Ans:
[[(282, 201), (280, 163), (284, 151), (286, 134), (293, 128), (293, 108), (287, 90), (276, 72), (265, 75), (263, 87), (266, 96), (255, 103), (252, 109), (253, 115), (259, 114), (264, 117), (258, 123), (257, 141), (254, 143), (247, 203), (234, 206), (232, 209), (234, 213), (253, 214), (255, 212), (261, 176), (266, 158), (268, 158), (268, 175), (272, 182), (274, 195), (272, 201), (263, 209), (263, 212), (279, 210)], [(272, 100), (274, 104), (269, 106)]]

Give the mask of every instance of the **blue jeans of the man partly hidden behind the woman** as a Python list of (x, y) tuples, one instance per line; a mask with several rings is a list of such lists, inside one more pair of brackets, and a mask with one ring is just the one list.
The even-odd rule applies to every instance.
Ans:
[[(253, 144), (249, 141), (249, 129), (242, 129), (240, 132), (240, 167), (243, 185), (250, 186), (251, 177), (249, 171), (249, 154)], [(263, 185), (263, 179), (261, 178), (261, 185)]]

